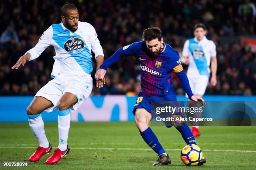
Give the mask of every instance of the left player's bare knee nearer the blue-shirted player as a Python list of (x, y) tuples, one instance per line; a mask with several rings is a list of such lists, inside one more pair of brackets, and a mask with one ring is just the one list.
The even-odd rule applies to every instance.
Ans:
[(77, 102), (77, 97), (71, 92), (65, 92), (58, 102), (59, 110), (66, 110)]

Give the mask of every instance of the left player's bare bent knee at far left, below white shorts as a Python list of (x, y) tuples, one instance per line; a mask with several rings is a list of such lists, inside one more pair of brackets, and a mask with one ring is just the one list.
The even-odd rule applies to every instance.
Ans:
[(52, 106), (53, 104), (50, 100), (41, 96), (36, 96), (28, 106), (27, 113), (28, 115), (37, 115)]

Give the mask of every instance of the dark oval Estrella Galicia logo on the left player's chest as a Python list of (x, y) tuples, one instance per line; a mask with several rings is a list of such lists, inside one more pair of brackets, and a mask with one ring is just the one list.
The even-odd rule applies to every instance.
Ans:
[(83, 50), (84, 41), (80, 38), (71, 37), (64, 43), (64, 49), (69, 53), (77, 53)]

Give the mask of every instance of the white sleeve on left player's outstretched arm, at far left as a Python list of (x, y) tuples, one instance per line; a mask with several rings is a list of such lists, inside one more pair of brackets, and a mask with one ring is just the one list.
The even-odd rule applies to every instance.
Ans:
[[(39, 55), (41, 55), (41, 53), (50, 45), (52, 45), (51, 40), (52, 40), (52, 35), (53, 35), (53, 30), (52, 27), (49, 27), (40, 37), (40, 39), (38, 40), (38, 43), (36, 44), (35, 47), (31, 48), (30, 50), (28, 50), (26, 53), (29, 53), (31, 55), (30, 60), (34, 60), (37, 57), (39, 57)], [(26, 54), (25, 53), (25, 54)]]

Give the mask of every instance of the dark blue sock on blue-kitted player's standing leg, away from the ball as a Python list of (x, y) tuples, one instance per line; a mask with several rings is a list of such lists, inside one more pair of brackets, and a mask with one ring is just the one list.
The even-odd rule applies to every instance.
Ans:
[(148, 127), (146, 130), (141, 132), (141, 137), (148, 144), (148, 146), (152, 148), (158, 155), (165, 153), (164, 148), (159, 143), (156, 135), (151, 130), (151, 128)]

